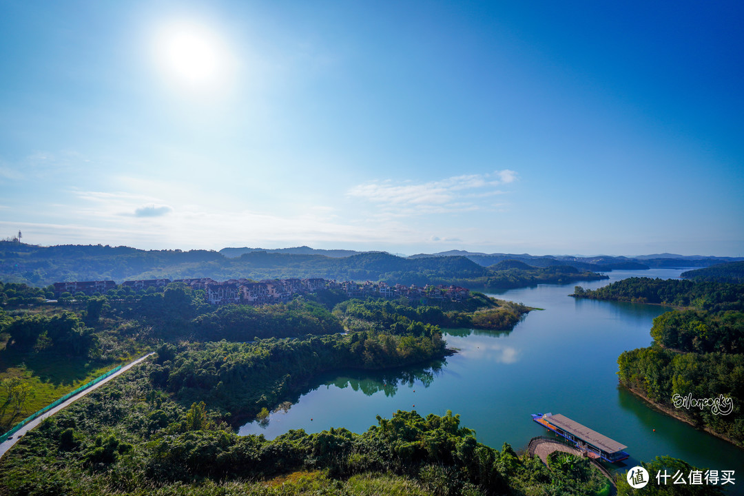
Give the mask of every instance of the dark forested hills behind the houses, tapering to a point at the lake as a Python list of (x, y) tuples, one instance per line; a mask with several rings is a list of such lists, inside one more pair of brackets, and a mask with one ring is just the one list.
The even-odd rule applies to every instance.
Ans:
[[(526, 267), (526, 266), (525, 266)], [(69, 280), (170, 280), (211, 277), (253, 280), (322, 277), (384, 280), (401, 284), (457, 284), (470, 288), (513, 288), (603, 278), (591, 271), (560, 268), (487, 268), (466, 257), (403, 258), (382, 252), (325, 257), (278, 251), (248, 251), (225, 257), (217, 251), (137, 250), (123, 246), (39, 247), (0, 242), (0, 280), (47, 286)]]

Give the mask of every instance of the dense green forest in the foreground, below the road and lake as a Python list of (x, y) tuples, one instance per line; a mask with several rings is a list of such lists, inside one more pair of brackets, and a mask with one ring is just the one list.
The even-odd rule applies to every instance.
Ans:
[[(173, 362), (158, 356), (163, 364)], [(177, 358), (176, 358), (177, 360)], [(0, 465), (1, 495), (596, 495), (587, 460), (551, 467), (482, 445), (457, 415), (398, 411), (362, 434), (234, 434), (205, 402), (173, 400), (129, 371), (43, 422)]]

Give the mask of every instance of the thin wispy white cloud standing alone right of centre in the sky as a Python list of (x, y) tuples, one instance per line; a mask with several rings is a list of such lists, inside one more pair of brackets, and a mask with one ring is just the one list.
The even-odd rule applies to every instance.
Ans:
[(395, 184), (388, 179), (359, 184), (351, 188), (347, 196), (379, 204), (391, 216), (463, 212), (480, 210), (483, 206), (473, 199), (504, 194), (493, 188), (513, 183), (517, 178), (516, 172), (505, 169), (490, 174), (456, 175), (422, 184), (411, 181)]

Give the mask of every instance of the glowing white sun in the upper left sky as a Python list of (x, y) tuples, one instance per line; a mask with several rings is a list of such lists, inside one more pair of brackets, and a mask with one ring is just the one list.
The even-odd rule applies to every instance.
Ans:
[(231, 77), (231, 54), (215, 30), (193, 21), (164, 25), (155, 37), (155, 65), (170, 83), (219, 91)]

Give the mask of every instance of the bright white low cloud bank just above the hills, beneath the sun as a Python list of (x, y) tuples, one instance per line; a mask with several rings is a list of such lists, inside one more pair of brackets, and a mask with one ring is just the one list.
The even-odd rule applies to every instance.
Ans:
[[(228, 210), (229, 203), (212, 199), (195, 204), (124, 191), (71, 193), (83, 203), (58, 204), (54, 210), (63, 212), (58, 222), (27, 219), (13, 222), (13, 227), (18, 225), (33, 234), (30, 242), (121, 244), (140, 248), (272, 247), (324, 242), (379, 245), (391, 238), (403, 243), (423, 238), (417, 230), (395, 222), (388, 222), (380, 230), (378, 225), (368, 222), (339, 219), (332, 207), (322, 205), (277, 213), (246, 208)], [(193, 202), (193, 198), (190, 200)], [(67, 222), (67, 219), (71, 220)]]

